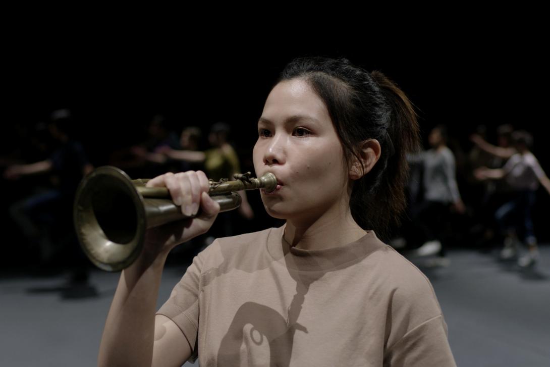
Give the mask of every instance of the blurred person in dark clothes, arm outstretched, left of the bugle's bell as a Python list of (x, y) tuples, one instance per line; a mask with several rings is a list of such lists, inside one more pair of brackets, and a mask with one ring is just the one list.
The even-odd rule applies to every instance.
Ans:
[(74, 260), (70, 281), (86, 282), (87, 260), (74, 233), (73, 202), (80, 180), (94, 167), (83, 145), (72, 138), (75, 120), (68, 109), (54, 111), (48, 128), (56, 143), (53, 154), (42, 161), (9, 166), (3, 176), (18, 180), (51, 174), (54, 188), (15, 202), (10, 206), (10, 215), (21, 233), (38, 245), (43, 264), (55, 260), (61, 250), (68, 250)]

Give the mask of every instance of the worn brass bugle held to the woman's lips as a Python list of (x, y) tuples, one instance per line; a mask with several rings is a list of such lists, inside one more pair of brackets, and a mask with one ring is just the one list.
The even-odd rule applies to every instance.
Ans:
[[(102, 166), (80, 182), (73, 207), (76, 236), (100, 269), (125, 269), (141, 254), (147, 229), (189, 218), (174, 204), (167, 188), (148, 188), (147, 181), (131, 179), (117, 167)], [(254, 178), (248, 172), (236, 174), (234, 180), (210, 180), (208, 195), (218, 202), (220, 211), (228, 211), (241, 204), (235, 191), (276, 187), (273, 173)]]

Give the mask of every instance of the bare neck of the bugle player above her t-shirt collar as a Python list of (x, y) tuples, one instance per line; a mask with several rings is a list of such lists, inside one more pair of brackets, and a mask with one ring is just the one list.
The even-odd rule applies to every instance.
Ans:
[(349, 209), (309, 221), (287, 220), (284, 239), (295, 248), (321, 250), (355, 242), (365, 235)]

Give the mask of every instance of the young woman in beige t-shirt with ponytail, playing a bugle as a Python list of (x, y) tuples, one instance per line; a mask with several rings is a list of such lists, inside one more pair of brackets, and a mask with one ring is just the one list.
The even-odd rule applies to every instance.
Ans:
[[(404, 207), (410, 102), (379, 72), (302, 58), (267, 97), (254, 147), (261, 192), (280, 228), (219, 238), (155, 312), (168, 252), (208, 231), (218, 205), (202, 172), (167, 173), (194, 219), (151, 229), (122, 272), (101, 341), (105, 366), (454, 366), (430, 282), (377, 234)], [(375, 234), (375, 231), (377, 234)]]

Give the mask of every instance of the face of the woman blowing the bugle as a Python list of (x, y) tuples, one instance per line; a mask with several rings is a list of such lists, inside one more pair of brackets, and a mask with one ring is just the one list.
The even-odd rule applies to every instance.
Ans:
[(273, 193), (261, 190), (276, 218), (307, 219), (347, 207), (348, 169), (324, 102), (303, 79), (277, 84), (258, 122), (254, 168), (277, 176)]

